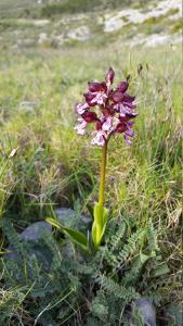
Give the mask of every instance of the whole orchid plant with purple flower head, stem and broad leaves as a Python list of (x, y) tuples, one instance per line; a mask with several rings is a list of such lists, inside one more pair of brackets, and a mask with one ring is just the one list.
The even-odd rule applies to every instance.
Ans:
[[(88, 125), (94, 125), (91, 143), (102, 148), (99, 202), (94, 205), (92, 225), (92, 242), (96, 249), (101, 244), (108, 216), (108, 210), (104, 206), (108, 141), (112, 136), (123, 134), (126, 142), (130, 145), (134, 134), (132, 120), (138, 115), (135, 97), (127, 92), (128, 82), (120, 82), (116, 88), (113, 88), (114, 77), (115, 72), (110, 67), (105, 82), (90, 82), (87, 92), (83, 93), (84, 102), (76, 104), (79, 117), (75, 129), (78, 135), (83, 136)], [(84, 249), (89, 247), (88, 238), (81, 233), (65, 228), (52, 218), (48, 218), (48, 222), (65, 231)]]

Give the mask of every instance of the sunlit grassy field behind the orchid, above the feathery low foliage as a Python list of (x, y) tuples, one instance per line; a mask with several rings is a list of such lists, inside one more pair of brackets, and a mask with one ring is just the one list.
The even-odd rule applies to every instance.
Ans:
[(87, 82), (102, 79), (109, 65), (118, 80), (130, 74), (131, 93), (139, 99), (136, 136), (131, 148), (120, 135), (110, 141), (106, 202), (113, 217), (122, 214), (138, 225), (153, 218), (171, 271), (159, 291), (165, 303), (170, 297), (179, 301), (180, 48), (130, 50), (115, 37), (101, 40), (63, 50), (2, 51), (1, 163), (12, 148), (19, 148), (13, 164), (0, 174), (0, 213), (22, 229), (50, 215), (51, 204), (75, 206), (79, 200), (87, 211), (88, 201), (97, 198), (101, 150), (74, 131), (74, 104), (81, 100)]

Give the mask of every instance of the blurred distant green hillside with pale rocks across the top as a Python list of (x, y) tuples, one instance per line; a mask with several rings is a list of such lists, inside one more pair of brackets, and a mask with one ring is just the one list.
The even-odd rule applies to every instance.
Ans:
[[(128, 14), (121, 17), (125, 26), (116, 30), (105, 33), (107, 15), (113, 13), (118, 15), (118, 10), (133, 9), (139, 5), (141, 13), (149, 11), (144, 1), (12, 1), (0, 2), (0, 49), (3, 48), (63, 48), (67, 43), (78, 45), (80, 40), (90, 39), (100, 46), (107, 46), (117, 38), (126, 41), (138, 37), (149, 36), (153, 34), (174, 34), (182, 28), (182, 20), (179, 18), (179, 9), (170, 9), (158, 16), (145, 18), (141, 23), (133, 23)], [(149, 7), (151, 8), (151, 7)], [(113, 10), (113, 11), (112, 11)], [(138, 12), (138, 9), (136, 9)], [(113, 16), (112, 14), (112, 16)], [(174, 15), (178, 14), (178, 18)], [(117, 20), (118, 21), (118, 20)], [(110, 22), (113, 25), (113, 22)], [(117, 24), (118, 25), (118, 24)], [(113, 26), (112, 29), (113, 30)], [(41, 35), (44, 40), (41, 40)], [(79, 40), (79, 42), (78, 42)]]

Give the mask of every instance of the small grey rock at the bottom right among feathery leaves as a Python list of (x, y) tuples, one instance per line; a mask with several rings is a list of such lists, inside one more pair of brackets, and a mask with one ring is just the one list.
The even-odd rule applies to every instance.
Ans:
[[(132, 312), (138, 311), (144, 326), (156, 326), (156, 311), (153, 303), (146, 298), (140, 298), (133, 303)], [(135, 325), (135, 324), (134, 324)]]

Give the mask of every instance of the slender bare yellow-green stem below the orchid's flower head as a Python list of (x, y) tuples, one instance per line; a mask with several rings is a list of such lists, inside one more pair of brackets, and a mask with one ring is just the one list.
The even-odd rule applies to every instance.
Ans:
[(106, 163), (107, 163), (107, 145), (108, 145), (108, 140), (105, 141), (105, 145), (103, 147), (102, 161), (101, 161), (100, 196), (99, 196), (99, 203), (101, 206), (104, 205), (105, 172), (106, 172)]

